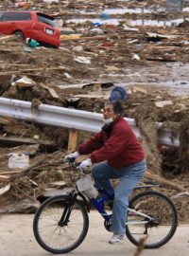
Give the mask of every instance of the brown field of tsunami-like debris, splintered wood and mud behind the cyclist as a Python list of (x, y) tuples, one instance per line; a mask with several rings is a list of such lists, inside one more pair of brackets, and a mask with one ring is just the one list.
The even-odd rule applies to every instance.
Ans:
[[(165, 1), (18, 4), (0, 1), (1, 9), (37, 9), (55, 17), (61, 44), (31, 48), (1, 35), (0, 97), (31, 101), (32, 112), (45, 103), (100, 113), (112, 86), (120, 84), (128, 92), (125, 117), (136, 120), (146, 151), (150, 175), (143, 182), (160, 183), (169, 196), (188, 191), (187, 9), (167, 13)], [(180, 147), (160, 145), (157, 122), (180, 134)], [(68, 130), (0, 117), (0, 131), (1, 212), (33, 211), (39, 198), (74, 185), (76, 172), (62, 162)], [(77, 144), (90, 136), (80, 131)], [(10, 169), (12, 153), (27, 153), (29, 166)], [(189, 220), (188, 202), (176, 202), (180, 221)]]

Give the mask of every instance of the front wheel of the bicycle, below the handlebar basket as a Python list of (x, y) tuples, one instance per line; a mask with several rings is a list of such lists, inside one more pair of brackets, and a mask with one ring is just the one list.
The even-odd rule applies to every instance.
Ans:
[(54, 254), (67, 253), (77, 248), (89, 229), (89, 216), (84, 204), (76, 199), (72, 205), (69, 222), (60, 227), (65, 209), (65, 197), (53, 196), (43, 202), (33, 221), (33, 232), (38, 244)]

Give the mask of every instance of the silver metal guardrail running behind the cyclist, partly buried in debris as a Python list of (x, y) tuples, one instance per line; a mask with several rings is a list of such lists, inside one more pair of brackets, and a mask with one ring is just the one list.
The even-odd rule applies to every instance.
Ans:
[[(7, 98), (0, 98), (0, 116), (94, 133), (99, 132), (104, 124), (102, 114), (47, 104), (40, 104), (36, 110), (32, 110), (31, 102), (29, 101)], [(135, 120), (127, 118), (127, 121), (135, 135), (140, 137), (140, 131), (136, 126)], [(179, 135), (172, 137), (171, 132), (167, 129), (162, 129), (161, 126), (161, 123), (157, 123), (159, 143), (178, 147), (180, 145)]]

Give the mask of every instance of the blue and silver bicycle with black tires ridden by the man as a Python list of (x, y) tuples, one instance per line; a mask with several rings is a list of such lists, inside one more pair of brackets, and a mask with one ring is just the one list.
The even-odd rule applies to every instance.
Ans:
[[(75, 162), (70, 162), (69, 165), (71, 170), (78, 167)], [(80, 175), (86, 174), (80, 172)], [(148, 186), (150, 185), (139, 186), (135, 190)], [(93, 190), (94, 188), (92, 192)], [(84, 193), (80, 192), (76, 185), (66, 195), (46, 199), (36, 211), (33, 222), (34, 236), (39, 245), (48, 252), (67, 253), (83, 242), (89, 229), (90, 204), (104, 218), (105, 229), (111, 230), (112, 214), (105, 210), (105, 205), (112, 197), (105, 195), (100, 199), (91, 196), (87, 198)], [(146, 237), (145, 248), (162, 247), (173, 237), (177, 226), (177, 210), (162, 192), (140, 192), (129, 201), (126, 235), (135, 246)]]

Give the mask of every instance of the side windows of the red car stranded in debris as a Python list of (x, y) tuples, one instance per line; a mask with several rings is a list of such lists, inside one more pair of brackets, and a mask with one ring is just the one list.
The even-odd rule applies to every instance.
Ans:
[(1, 12), (1, 21), (29, 21), (31, 14), (29, 12)]

